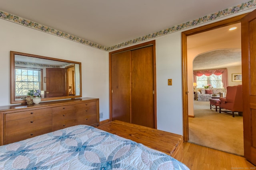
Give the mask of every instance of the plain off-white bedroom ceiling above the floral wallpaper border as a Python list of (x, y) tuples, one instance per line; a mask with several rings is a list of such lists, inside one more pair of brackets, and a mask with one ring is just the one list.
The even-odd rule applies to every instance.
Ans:
[(245, 0), (0, 0), (0, 10), (111, 47)]

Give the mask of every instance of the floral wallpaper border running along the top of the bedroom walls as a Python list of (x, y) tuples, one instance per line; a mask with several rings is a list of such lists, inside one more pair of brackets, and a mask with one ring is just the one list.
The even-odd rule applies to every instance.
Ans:
[(100, 49), (100, 50), (112, 51), (112, 50), (115, 50), (115, 49), (119, 49), (121, 47), (125, 47), (125, 46), (128, 46), (128, 45), (132, 45), (132, 44), (135, 44), (135, 43), (146, 41), (148, 39), (153, 39), (153, 38), (156, 38), (156, 37), (159, 37), (159, 36), (162, 36), (162, 35), (166, 35), (166, 34), (169, 34), (169, 33), (180, 31), (182, 29), (186, 29), (186, 28), (193, 27), (193, 26), (196, 26), (196, 25), (199, 25), (199, 24), (202, 24), (202, 23), (206, 23), (208, 21), (213, 21), (213, 20), (225, 17), (225, 16), (229, 16), (231, 14), (236, 14), (238, 12), (242, 12), (242, 11), (245, 11), (245, 10), (248, 10), (248, 9), (251, 9), (251, 8), (255, 8), (256, 7), (256, 2), (255, 1), (256, 0), (250, 0), (250, 1), (244, 2), (242, 4), (238, 4), (236, 6), (227, 8), (225, 10), (221, 10), (219, 12), (215, 12), (213, 14), (209, 14), (207, 16), (200, 17), (196, 20), (191, 20), (191, 21), (188, 21), (188, 22), (185, 22), (185, 23), (181, 23), (179, 25), (175, 25), (173, 27), (169, 27), (167, 29), (157, 31), (155, 33), (144, 35), (143, 37), (138, 37), (136, 39), (132, 39), (130, 41), (126, 41), (124, 43), (114, 45), (112, 47), (104, 47), (102, 45), (98, 45), (96, 43), (87, 41), (85, 39), (75, 37), (74, 35), (70, 35), (68, 33), (64, 33), (62, 31), (58, 31), (56, 29), (53, 29), (53, 28), (50, 28), (50, 27), (47, 27), (47, 26), (44, 26), (44, 25), (40, 25), (39, 23), (35, 23), (33, 21), (29, 21), (29, 20), (26, 20), (24, 18), (20, 18), (18, 16), (14, 16), (13, 14), (9, 14), (7, 12), (0, 11), (0, 18), (4, 19), (4, 20), (12, 21), (14, 23), (18, 23), (20, 25), (24, 25), (26, 27), (30, 27), (30, 28), (33, 28), (33, 29), (37, 29), (37, 30), (46, 32), (46, 33), (50, 33), (50, 34), (56, 35), (58, 37), (69, 39), (69, 40), (75, 41), (77, 43), (88, 45), (90, 47), (94, 47), (94, 48), (97, 48), (97, 49)]

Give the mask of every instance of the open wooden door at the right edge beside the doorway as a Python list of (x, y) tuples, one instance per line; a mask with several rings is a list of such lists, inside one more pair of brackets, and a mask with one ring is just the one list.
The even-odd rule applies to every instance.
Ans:
[(241, 22), (244, 157), (256, 165), (256, 10)]

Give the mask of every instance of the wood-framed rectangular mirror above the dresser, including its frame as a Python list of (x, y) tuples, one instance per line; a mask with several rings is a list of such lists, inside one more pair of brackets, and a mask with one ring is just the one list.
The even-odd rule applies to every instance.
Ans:
[(28, 90), (40, 89), (41, 100), (82, 97), (81, 63), (10, 52), (11, 104), (25, 103)]

